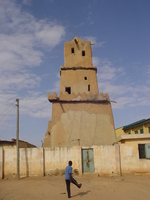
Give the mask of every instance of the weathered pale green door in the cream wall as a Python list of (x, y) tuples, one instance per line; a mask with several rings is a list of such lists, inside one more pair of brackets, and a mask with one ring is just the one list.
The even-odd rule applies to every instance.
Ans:
[(82, 171), (94, 172), (93, 149), (82, 149)]

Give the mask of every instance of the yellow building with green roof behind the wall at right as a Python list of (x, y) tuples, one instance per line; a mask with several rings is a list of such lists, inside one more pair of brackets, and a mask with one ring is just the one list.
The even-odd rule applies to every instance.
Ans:
[(116, 129), (116, 136), (123, 134), (146, 134), (150, 133), (150, 118), (142, 119), (134, 123)]

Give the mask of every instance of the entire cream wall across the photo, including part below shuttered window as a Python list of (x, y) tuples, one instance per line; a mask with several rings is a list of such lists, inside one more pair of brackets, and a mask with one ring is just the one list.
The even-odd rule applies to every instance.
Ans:
[[(150, 160), (139, 159), (137, 142), (91, 148), (94, 153), (94, 173), (96, 174), (110, 176), (150, 173)], [(16, 156), (16, 149), (0, 148), (0, 178), (16, 177)], [(80, 146), (20, 149), (20, 177), (63, 175), (69, 160), (73, 161), (73, 170), (77, 169), (78, 174), (82, 175)]]

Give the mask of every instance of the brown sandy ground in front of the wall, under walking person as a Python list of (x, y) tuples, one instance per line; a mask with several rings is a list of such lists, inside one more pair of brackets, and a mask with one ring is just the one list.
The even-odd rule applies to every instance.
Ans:
[[(135, 175), (101, 177), (88, 175), (75, 177), (81, 189), (71, 185), (74, 200), (149, 200), (150, 176)], [(57, 200), (68, 199), (64, 176), (27, 177), (20, 180), (0, 180), (0, 200)]]

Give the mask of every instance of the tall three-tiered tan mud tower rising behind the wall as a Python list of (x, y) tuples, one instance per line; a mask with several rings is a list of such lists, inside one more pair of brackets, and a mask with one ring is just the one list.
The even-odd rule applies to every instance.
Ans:
[(43, 147), (106, 145), (116, 142), (109, 95), (99, 93), (91, 42), (75, 37), (65, 42), (60, 67), (60, 93), (48, 93), (52, 119)]

